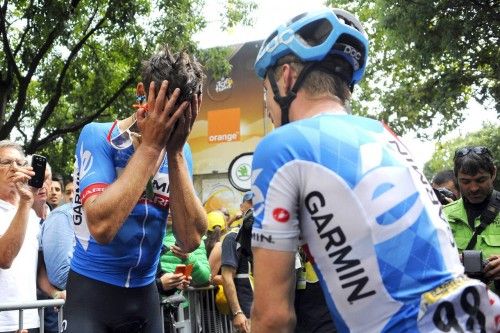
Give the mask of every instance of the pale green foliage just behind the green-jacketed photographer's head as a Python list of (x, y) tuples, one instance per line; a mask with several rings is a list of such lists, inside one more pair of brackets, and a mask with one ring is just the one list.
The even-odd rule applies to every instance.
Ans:
[[(497, 170), (500, 170), (500, 126), (484, 124), (477, 132), (469, 133), (465, 137), (455, 138), (449, 141), (436, 143), (432, 158), (424, 165), (424, 174), (431, 179), (438, 171), (453, 169), (453, 156), (455, 150), (465, 146), (488, 147), (495, 158)], [(495, 188), (500, 189), (500, 171), (497, 172)]]

